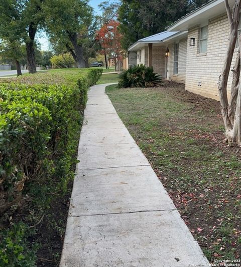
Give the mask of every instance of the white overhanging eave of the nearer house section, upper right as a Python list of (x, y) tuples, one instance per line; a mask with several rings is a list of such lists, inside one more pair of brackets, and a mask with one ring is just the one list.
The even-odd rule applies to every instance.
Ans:
[[(229, 5), (232, 7), (234, 0), (228, 0)], [(174, 22), (167, 28), (168, 31), (187, 31), (188, 28), (200, 25), (205, 26), (208, 20), (214, 18), (222, 13), (225, 13), (224, 0), (210, 0), (201, 7), (186, 14), (181, 19)]]

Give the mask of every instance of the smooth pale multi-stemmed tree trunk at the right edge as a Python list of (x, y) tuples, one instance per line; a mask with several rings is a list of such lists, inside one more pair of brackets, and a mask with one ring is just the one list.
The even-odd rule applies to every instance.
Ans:
[[(230, 25), (228, 48), (224, 59), (223, 69), (218, 78), (218, 92), (220, 97), (222, 118), (225, 125), (226, 142), (241, 145), (241, 83), (240, 83), (240, 51), (241, 35), (238, 36), (239, 12), (241, 1), (235, 0), (231, 10), (228, 0), (225, 0), (227, 17)], [(232, 71), (230, 100), (227, 97), (227, 81), (230, 72), (235, 44), (238, 38), (238, 52)]]

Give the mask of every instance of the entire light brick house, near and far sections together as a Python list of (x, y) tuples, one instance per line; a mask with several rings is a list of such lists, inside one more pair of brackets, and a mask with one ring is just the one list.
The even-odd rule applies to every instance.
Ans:
[[(230, 7), (233, 4), (234, 0), (229, 0)], [(137, 43), (133, 45), (138, 48), (136, 64), (145, 63), (147, 66), (153, 66), (154, 71), (163, 78), (185, 83), (186, 90), (218, 100), (217, 80), (229, 38), (224, 0), (209, 1), (173, 23), (167, 32), (171, 34), (169, 38), (163, 38), (159, 45), (156, 44), (158, 51), (152, 50), (151, 55), (150, 47), (154, 48), (151, 37), (146, 38), (150, 42), (144, 47), (143, 39), (137, 42), (139, 46), (134, 46)], [(129, 48), (130, 52), (133, 51), (133, 46)], [(164, 62), (165, 51), (169, 52)], [(237, 51), (236, 48), (233, 63)], [(228, 90), (231, 78), (230, 71)]]

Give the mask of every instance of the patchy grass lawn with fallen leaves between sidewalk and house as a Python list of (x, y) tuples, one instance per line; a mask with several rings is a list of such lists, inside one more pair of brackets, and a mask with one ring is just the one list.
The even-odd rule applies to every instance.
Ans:
[(219, 103), (168, 82), (106, 92), (207, 258), (239, 259), (241, 150), (223, 143)]

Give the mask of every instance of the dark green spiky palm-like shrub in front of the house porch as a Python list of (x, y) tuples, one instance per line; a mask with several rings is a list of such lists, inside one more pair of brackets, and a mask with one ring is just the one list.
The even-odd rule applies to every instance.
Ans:
[(127, 87), (154, 87), (162, 83), (161, 76), (153, 72), (152, 67), (141, 64), (130, 67), (119, 76), (118, 86)]

